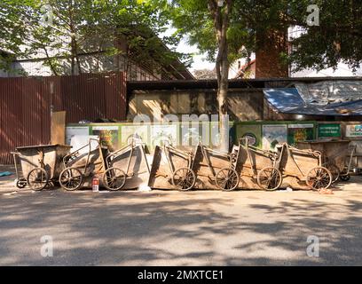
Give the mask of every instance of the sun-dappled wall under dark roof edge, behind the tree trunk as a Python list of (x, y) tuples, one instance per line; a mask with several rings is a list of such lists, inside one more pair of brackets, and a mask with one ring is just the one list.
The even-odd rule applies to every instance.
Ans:
[[(263, 91), (230, 91), (228, 105), (232, 121), (264, 117)], [(129, 100), (129, 121), (137, 114), (151, 119), (165, 114), (218, 114), (216, 91), (134, 91)]]

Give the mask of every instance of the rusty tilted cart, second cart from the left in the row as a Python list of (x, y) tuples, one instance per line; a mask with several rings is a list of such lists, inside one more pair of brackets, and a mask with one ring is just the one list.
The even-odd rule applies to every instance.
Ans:
[[(97, 144), (92, 148), (92, 141)], [(86, 152), (84, 152), (86, 151)], [(90, 138), (88, 144), (63, 158), (64, 170), (60, 173), (59, 184), (68, 191), (83, 187), (91, 187), (94, 177), (103, 176), (106, 171), (106, 147), (100, 145), (98, 139)]]

